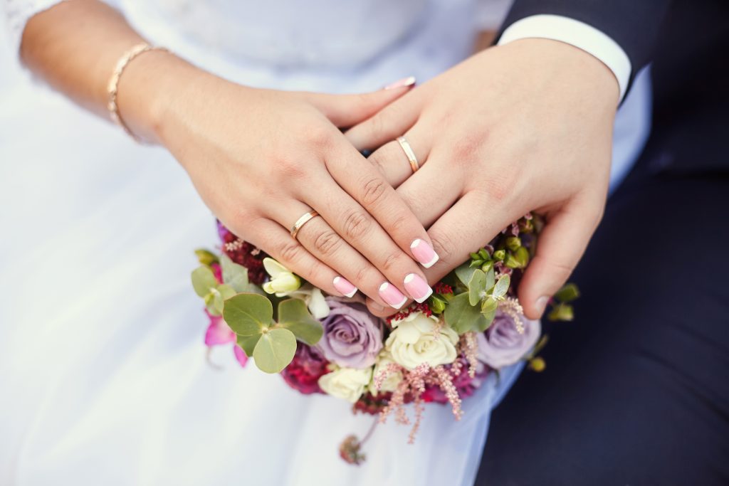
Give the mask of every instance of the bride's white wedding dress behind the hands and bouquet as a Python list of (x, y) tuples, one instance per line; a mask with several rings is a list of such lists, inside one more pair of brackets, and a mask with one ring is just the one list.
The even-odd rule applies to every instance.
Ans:
[[(372, 418), (280, 377), (206, 363), (192, 249), (214, 218), (163, 149), (31, 82), (20, 31), (55, 1), (5, 0), (0, 58), (1, 485), (470, 485), (490, 410), (521, 367), (429, 406), (416, 444), (391, 421), (367, 461), (338, 457)], [(246, 85), (357, 92), (469, 55), (504, 1), (127, 0), (152, 42)], [(485, 74), (488, 75), (488, 74)], [(613, 182), (648, 131), (644, 75), (620, 110)]]

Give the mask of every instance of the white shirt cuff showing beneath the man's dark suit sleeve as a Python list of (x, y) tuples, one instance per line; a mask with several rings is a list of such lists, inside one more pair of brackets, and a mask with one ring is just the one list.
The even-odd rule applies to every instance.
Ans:
[(623, 48), (602, 31), (561, 15), (532, 15), (507, 27), (499, 39), (499, 45), (534, 38), (565, 42), (601, 60), (615, 74), (620, 87), (620, 101), (623, 100), (631, 77), (631, 60)]

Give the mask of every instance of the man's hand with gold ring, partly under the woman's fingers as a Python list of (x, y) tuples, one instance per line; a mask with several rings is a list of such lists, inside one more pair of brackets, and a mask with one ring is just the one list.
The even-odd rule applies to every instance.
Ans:
[[(440, 255), (431, 283), (510, 222), (543, 213), (519, 288), (537, 318), (601, 219), (617, 98), (615, 77), (592, 55), (521, 40), (474, 55), (346, 135), (359, 149), (381, 146), (370, 161), (429, 227)], [(392, 141), (403, 134), (421, 163), (415, 174)]]

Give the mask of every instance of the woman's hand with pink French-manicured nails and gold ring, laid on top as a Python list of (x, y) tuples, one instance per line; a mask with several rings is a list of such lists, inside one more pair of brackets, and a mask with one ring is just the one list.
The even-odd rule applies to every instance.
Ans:
[[(149, 53), (146, 62), (164, 56)], [(140, 72), (143, 60), (130, 71)], [(184, 85), (171, 85), (157, 102), (153, 136), (223, 224), (330, 294), (349, 294), (351, 282), (381, 305), (423, 297), (412, 285), (406, 291), (404, 280), (417, 275), (423, 284), (415, 290), (428, 289), (410, 256), (413, 240), (429, 242), (424, 227), (337, 128), (371, 117), (408, 83), (321, 95), (242, 87), (192, 66), (176, 77)], [(312, 209), (321, 217), (292, 238), (289, 229)]]

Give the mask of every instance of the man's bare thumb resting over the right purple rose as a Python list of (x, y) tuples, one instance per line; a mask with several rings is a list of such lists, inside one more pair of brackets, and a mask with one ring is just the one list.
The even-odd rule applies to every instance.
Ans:
[(538, 319), (549, 299), (572, 275), (600, 222), (603, 208), (604, 201), (587, 203), (575, 198), (547, 218), (539, 234), (537, 254), (519, 284), (519, 301), (526, 317)]

